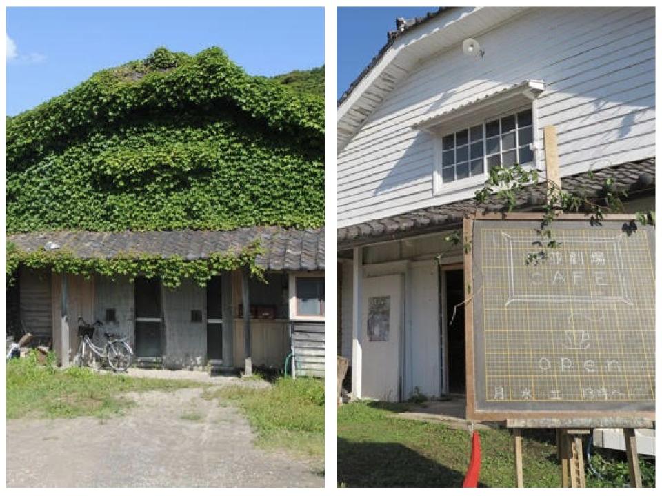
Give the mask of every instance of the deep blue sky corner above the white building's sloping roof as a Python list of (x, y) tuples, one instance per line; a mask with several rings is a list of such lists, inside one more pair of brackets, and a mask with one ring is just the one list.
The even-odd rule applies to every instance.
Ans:
[(337, 97), (350, 86), (386, 43), (395, 19), (422, 17), (437, 7), (339, 7)]

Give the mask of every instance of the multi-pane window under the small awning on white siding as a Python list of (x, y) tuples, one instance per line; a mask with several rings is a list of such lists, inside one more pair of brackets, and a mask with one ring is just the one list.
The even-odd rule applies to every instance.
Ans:
[(461, 181), (499, 165), (532, 163), (532, 142), (530, 107), (443, 135), (441, 181), (443, 184)]

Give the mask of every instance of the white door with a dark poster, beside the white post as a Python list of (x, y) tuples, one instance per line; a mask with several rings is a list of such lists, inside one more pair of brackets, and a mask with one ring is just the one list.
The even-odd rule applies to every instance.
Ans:
[(361, 396), (399, 401), (403, 321), (402, 276), (363, 279)]

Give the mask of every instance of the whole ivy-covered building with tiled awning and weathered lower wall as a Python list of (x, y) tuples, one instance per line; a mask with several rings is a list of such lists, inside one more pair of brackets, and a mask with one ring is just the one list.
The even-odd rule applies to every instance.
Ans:
[(10, 333), (323, 373), (323, 99), (283, 81), (158, 49), (8, 119)]

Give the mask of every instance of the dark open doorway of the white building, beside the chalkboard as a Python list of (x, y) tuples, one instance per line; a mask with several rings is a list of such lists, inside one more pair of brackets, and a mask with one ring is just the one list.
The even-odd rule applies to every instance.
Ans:
[[(448, 390), (466, 393), (464, 355), (464, 271), (448, 270), (446, 275), (446, 329), (448, 331)], [(457, 305), (457, 308), (456, 308)], [(455, 315), (453, 315), (455, 313)]]

